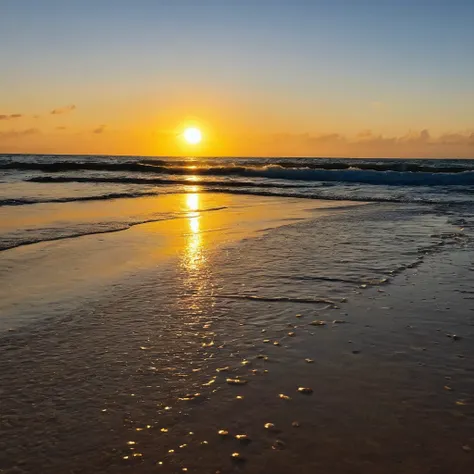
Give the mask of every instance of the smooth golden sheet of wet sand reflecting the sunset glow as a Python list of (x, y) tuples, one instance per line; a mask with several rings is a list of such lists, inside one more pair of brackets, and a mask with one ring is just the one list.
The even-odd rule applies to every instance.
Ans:
[[(96, 286), (106, 289), (190, 251), (207, 251), (291, 222), (361, 205), (364, 203), (321, 200), (308, 204), (298, 198), (255, 199), (253, 196), (195, 192), (100, 205), (79, 202), (14, 209), (2, 220), (4, 234), (9, 229), (35, 232), (36, 228), (42, 233), (43, 228), (54, 229), (57, 222), (68, 225), (69, 221), (74, 229), (77, 225), (94, 226), (101, 219), (113, 222), (143, 219), (156, 213), (159, 216), (157, 220), (119, 230), (66, 235), (0, 252), (3, 262), (0, 279), (7, 282), (0, 288), (0, 312), (3, 314), (0, 329), (15, 327), (15, 319), (21, 318), (22, 314), (28, 320), (35, 318), (38, 310), (47, 313), (48, 307), (60, 304), (65, 298), (69, 302), (57, 312), (72, 311), (73, 306), (69, 303), (81, 298), (82, 294), (100, 298)], [(29, 288), (29, 295), (23, 292), (25, 286)], [(92, 293), (91, 289), (94, 290)], [(59, 298), (55, 299), (55, 295)], [(11, 316), (9, 308), (13, 308)], [(12, 321), (10, 325), (5, 323), (7, 317)]]

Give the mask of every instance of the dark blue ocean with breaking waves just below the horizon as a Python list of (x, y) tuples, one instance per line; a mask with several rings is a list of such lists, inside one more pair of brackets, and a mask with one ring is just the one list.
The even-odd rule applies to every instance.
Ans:
[[(116, 200), (190, 192), (442, 205), (470, 214), (471, 160), (335, 158), (175, 159), (120, 156), (0, 156), (0, 206)], [(8, 212), (8, 211), (4, 211)], [(17, 212), (11, 210), (10, 212)], [(462, 217), (461, 216), (461, 217)], [(2, 232), (0, 249), (127, 229), (156, 216), (63, 222)], [(164, 218), (160, 215), (156, 218)]]

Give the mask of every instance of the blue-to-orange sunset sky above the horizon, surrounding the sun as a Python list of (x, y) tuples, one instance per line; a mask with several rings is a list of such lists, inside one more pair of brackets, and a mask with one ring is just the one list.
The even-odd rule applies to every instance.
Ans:
[(0, 0), (0, 153), (474, 158), (473, 24), (472, 0)]

